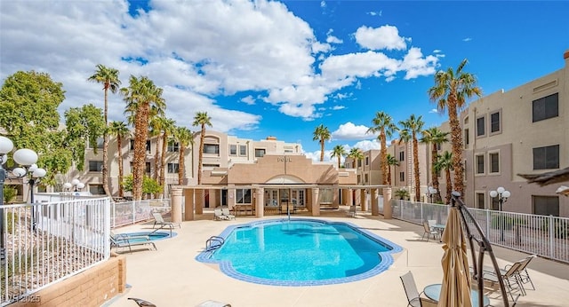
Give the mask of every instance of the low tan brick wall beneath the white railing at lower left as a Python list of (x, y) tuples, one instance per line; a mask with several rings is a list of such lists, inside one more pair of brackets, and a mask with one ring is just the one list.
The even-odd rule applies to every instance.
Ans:
[(111, 254), (108, 261), (24, 297), (11, 306), (100, 306), (126, 287), (126, 259)]

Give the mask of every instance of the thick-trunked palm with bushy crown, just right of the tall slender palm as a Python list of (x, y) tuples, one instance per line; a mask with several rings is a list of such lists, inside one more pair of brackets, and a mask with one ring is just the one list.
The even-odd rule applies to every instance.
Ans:
[(121, 92), (126, 102), (124, 113), (134, 124), (134, 156), (132, 159), (132, 197), (142, 199), (142, 181), (146, 163), (146, 141), (148, 122), (151, 115), (164, 114), (166, 103), (162, 98), (163, 90), (157, 87), (147, 76), (137, 78), (131, 75), (129, 86)]

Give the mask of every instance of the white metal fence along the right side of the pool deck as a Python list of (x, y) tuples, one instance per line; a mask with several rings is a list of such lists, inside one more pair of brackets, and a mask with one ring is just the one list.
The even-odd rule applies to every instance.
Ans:
[[(394, 218), (414, 224), (446, 224), (449, 206), (392, 200)], [(469, 208), (494, 245), (569, 263), (569, 218)], [(480, 239), (480, 238), (478, 238)]]

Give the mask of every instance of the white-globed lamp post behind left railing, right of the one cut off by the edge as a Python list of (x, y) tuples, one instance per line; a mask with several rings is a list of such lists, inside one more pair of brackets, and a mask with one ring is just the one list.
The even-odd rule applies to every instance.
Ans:
[(29, 192), (29, 202), (32, 208), (32, 230), (36, 230), (36, 211), (34, 209), (34, 185), (45, 176), (45, 169), (40, 169), (36, 165), (37, 161), (37, 153), (31, 149), (23, 148), (18, 149), (13, 154), (13, 159), (16, 163), (28, 167), (28, 169), (22, 168), (15, 168), (12, 170), (12, 174), (16, 177), (28, 177), (28, 184), (30, 188)]

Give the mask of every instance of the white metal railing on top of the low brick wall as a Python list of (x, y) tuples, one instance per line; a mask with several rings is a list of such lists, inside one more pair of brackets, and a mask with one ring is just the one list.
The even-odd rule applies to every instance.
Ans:
[(0, 305), (107, 260), (109, 209), (109, 198), (2, 206)]

